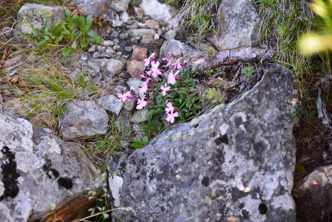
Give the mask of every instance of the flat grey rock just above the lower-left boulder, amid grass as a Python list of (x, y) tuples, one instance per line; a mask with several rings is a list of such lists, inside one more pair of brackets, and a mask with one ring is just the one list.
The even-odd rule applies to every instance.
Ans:
[(60, 114), (63, 139), (105, 134), (108, 116), (93, 101), (69, 101), (65, 114)]

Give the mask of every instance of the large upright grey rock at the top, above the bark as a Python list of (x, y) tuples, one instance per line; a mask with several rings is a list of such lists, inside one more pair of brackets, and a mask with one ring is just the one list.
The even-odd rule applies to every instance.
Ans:
[(217, 34), (211, 32), (207, 40), (219, 51), (252, 46), (260, 40), (261, 20), (250, 1), (219, 1), (217, 18)]

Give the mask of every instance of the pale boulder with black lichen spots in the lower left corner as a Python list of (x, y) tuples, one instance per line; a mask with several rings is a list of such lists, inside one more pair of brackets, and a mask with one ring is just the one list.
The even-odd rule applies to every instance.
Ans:
[(2, 113), (0, 125), (0, 221), (72, 221), (95, 204), (98, 170), (78, 145)]

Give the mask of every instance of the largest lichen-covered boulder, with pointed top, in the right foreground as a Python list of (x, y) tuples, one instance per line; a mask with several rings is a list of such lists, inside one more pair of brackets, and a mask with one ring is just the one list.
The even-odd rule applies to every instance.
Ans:
[[(295, 78), (274, 65), (246, 95), (107, 162), (120, 221), (295, 221)], [(113, 217), (120, 211), (113, 212)]]

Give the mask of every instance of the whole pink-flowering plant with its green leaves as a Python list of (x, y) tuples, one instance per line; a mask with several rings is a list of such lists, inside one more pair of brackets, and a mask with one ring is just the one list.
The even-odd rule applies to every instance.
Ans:
[[(170, 67), (168, 72), (159, 68), (160, 63), (155, 59), (155, 53), (144, 60), (144, 65), (151, 63), (151, 70), (146, 71), (147, 76), (141, 76), (145, 79), (142, 87), (139, 87), (139, 93), (142, 97), (135, 96), (130, 89), (127, 93), (119, 94), (119, 101), (137, 98), (137, 110), (150, 109), (147, 115), (157, 115), (166, 121), (173, 123), (175, 118), (179, 117), (178, 122), (186, 121), (200, 112), (200, 97), (195, 89), (194, 79), (190, 70), (181, 62), (180, 58), (172, 53), (170, 56), (162, 58), (167, 64), (163, 67)], [(182, 54), (182, 53), (181, 53)], [(172, 60), (175, 63), (172, 64)]]

